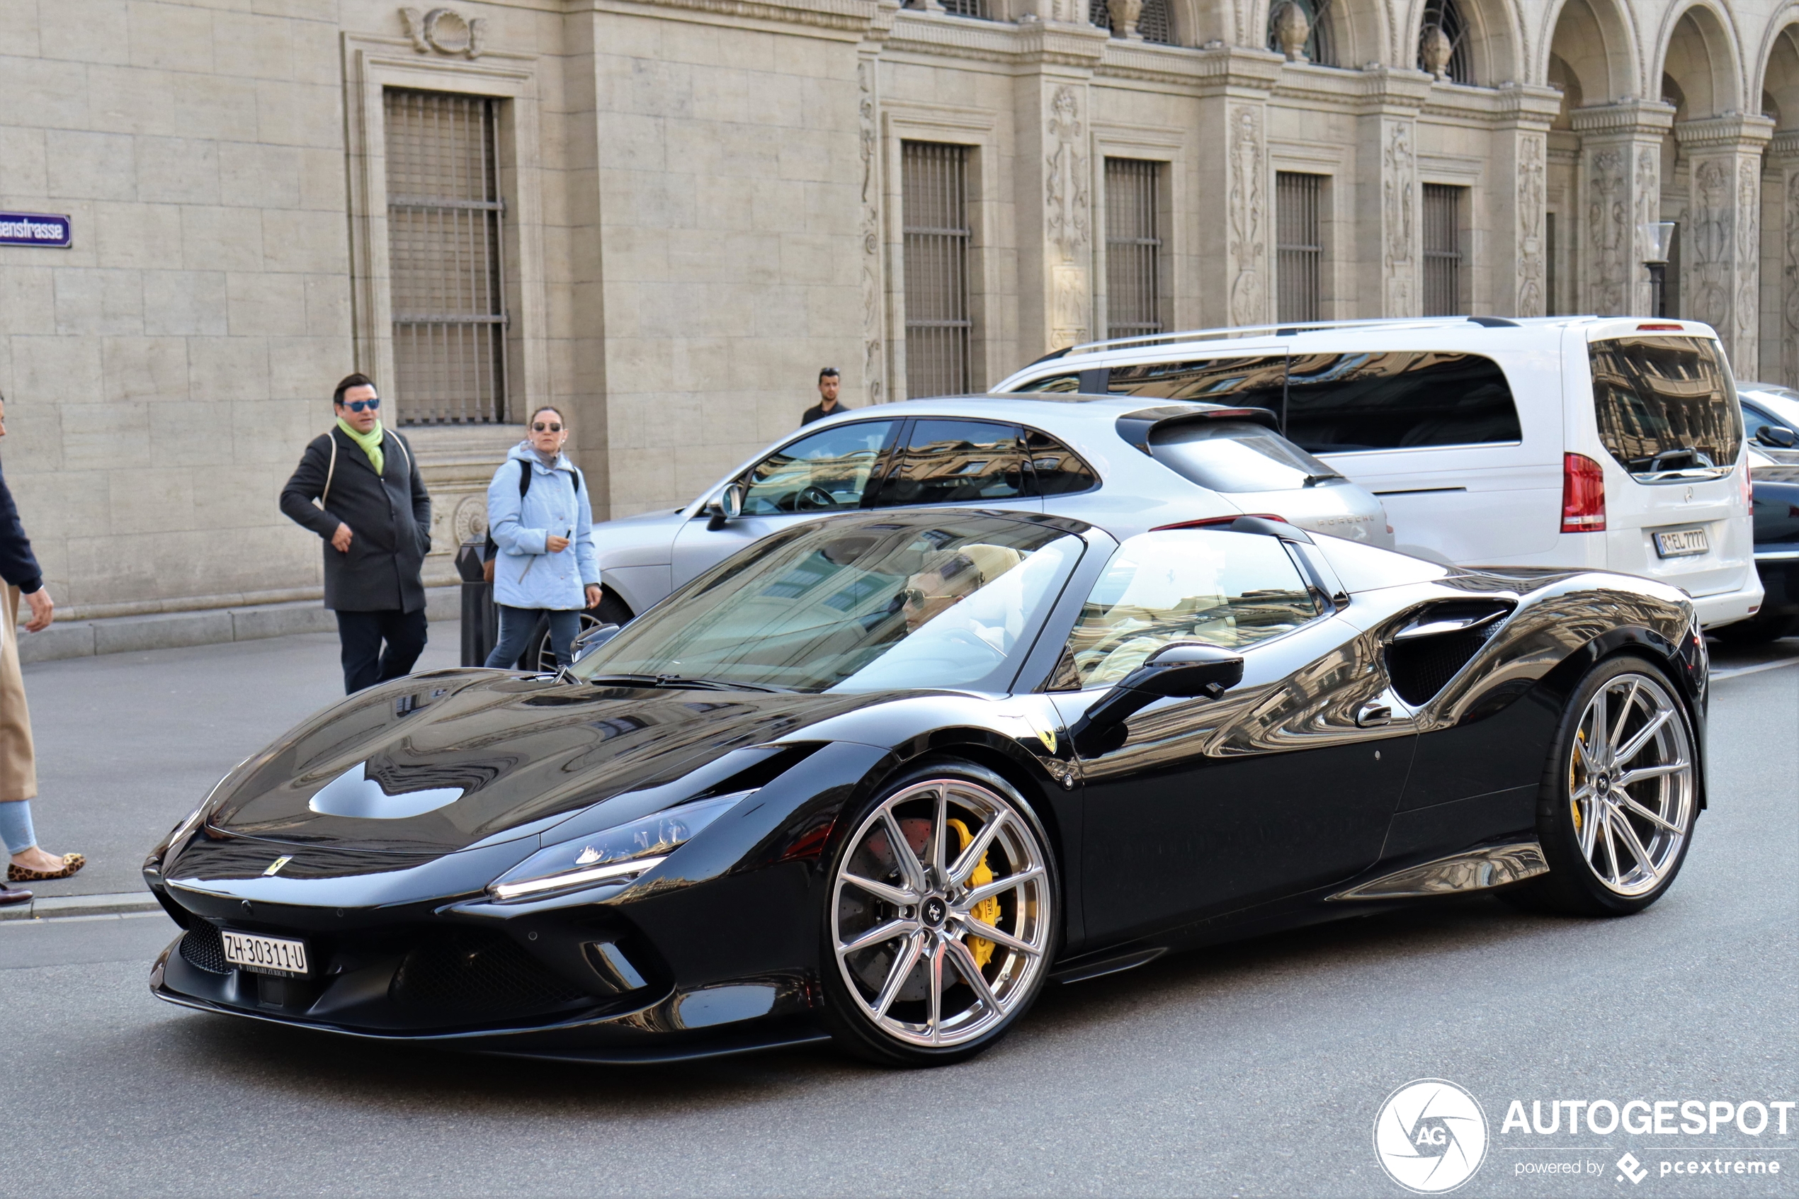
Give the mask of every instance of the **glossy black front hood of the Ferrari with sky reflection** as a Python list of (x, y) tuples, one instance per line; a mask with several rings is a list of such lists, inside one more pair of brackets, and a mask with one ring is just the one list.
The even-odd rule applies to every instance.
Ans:
[(207, 823), (266, 841), (446, 854), (536, 834), (885, 697), (416, 674), (320, 712), (239, 766)]

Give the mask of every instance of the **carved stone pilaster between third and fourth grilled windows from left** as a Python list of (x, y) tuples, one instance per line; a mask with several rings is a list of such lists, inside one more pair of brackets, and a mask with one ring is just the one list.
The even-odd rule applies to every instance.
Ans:
[[(1200, 320), (1259, 325), (1274, 320), (1274, 169), (1268, 164), (1268, 93), (1281, 56), (1225, 47), (1205, 50), (1200, 88), (1198, 194), (1223, 201), (1200, 221)], [(1216, 271), (1216, 273), (1214, 273)]]

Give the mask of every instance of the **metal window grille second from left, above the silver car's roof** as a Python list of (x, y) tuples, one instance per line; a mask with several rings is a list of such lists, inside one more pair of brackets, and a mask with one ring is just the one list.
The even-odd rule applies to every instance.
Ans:
[(907, 395), (973, 390), (968, 307), (968, 147), (900, 144)]

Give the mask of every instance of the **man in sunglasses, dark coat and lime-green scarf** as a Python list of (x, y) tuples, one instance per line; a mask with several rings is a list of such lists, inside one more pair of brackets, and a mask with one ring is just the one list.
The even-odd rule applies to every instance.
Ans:
[(326, 543), (326, 608), (338, 618), (344, 692), (354, 694), (407, 674), (425, 653), (432, 498), (412, 446), (381, 428), (374, 381), (347, 376), (331, 406), (336, 428), (306, 448), (281, 511)]

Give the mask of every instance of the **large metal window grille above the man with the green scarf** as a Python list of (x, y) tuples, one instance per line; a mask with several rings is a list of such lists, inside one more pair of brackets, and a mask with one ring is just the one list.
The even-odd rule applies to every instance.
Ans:
[(389, 88), (383, 102), (401, 422), (506, 421), (498, 101)]

